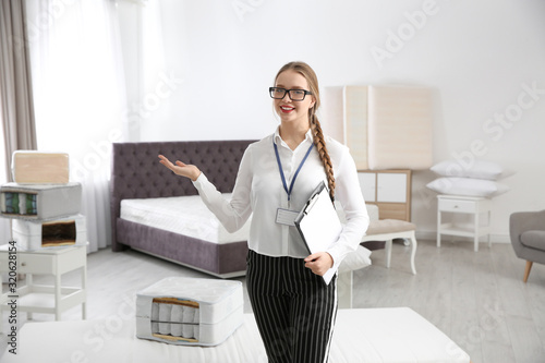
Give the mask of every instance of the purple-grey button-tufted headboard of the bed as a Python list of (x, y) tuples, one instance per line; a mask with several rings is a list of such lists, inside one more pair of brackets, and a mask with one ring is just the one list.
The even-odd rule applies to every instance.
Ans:
[(181, 160), (197, 166), (220, 192), (230, 193), (242, 155), (251, 143), (253, 141), (113, 144), (110, 179), (112, 250), (124, 249), (117, 242), (116, 231), (122, 199), (197, 194), (189, 179), (173, 174), (159, 164), (159, 154), (172, 162)]

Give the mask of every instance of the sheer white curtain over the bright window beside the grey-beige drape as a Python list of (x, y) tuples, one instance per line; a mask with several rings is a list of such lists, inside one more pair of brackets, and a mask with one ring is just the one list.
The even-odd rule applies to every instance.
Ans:
[(89, 251), (111, 243), (112, 142), (123, 142), (126, 100), (117, 2), (27, 0), (39, 150), (70, 154), (83, 186)]

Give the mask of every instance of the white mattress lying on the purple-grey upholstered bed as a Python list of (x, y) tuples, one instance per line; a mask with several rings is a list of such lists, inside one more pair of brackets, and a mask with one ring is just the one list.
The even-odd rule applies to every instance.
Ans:
[[(223, 197), (230, 199), (231, 194), (226, 193)], [(123, 199), (121, 219), (221, 244), (246, 241), (251, 218), (240, 230), (229, 233), (201, 196), (186, 195)]]

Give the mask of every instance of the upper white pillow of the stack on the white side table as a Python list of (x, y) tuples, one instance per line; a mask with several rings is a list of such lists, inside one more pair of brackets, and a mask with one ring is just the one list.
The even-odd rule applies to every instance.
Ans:
[(514, 172), (505, 170), (499, 164), (484, 160), (473, 160), (469, 167), (456, 160), (445, 160), (434, 165), (432, 171), (441, 177), (476, 178), (500, 180), (512, 176)]

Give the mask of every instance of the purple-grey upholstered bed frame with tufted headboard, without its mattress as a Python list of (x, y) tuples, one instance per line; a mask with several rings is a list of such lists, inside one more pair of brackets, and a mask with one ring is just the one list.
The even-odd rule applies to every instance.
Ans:
[(158, 161), (193, 164), (221, 193), (231, 193), (239, 165), (253, 141), (153, 142), (113, 144), (110, 179), (111, 249), (129, 247), (221, 278), (246, 270), (247, 242), (218, 244), (120, 218), (120, 204), (128, 198), (196, 195), (191, 181), (173, 174)]

